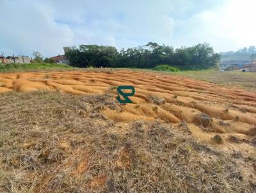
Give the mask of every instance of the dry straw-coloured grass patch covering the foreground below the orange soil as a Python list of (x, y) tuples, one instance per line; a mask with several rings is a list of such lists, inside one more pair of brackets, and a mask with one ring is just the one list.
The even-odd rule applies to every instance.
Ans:
[(2, 93), (0, 192), (256, 191), (242, 172), (255, 158), (199, 143), (186, 123), (124, 125), (106, 108), (122, 107), (111, 95)]

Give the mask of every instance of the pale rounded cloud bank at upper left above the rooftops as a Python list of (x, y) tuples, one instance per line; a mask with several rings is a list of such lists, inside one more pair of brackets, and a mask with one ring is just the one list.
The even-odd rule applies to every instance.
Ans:
[(63, 45), (74, 41), (74, 33), (65, 24), (58, 25), (47, 7), (32, 1), (0, 1), (0, 52), (31, 55), (38, 50), (44, 56), (62, 53)]

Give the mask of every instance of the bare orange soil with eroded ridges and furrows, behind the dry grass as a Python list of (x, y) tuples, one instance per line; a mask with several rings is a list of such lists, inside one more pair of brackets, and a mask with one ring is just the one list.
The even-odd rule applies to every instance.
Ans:
[[(256, 125), (256, 93), (243, 89), (226, 88), (210, 82), (198, 81), (159, 73), (113, 71), (113, 72), (20, 72), (0, 74), (0, 92), (34, 91), (37, 89), (58, 90), (74, 95), (106, 93), (113, 86), (131, 85), (136, 94), (134, 104), (124, 105), (124, 111), (107, 109), (108, 118), (130, 122), (153, 121), (156, 118), (170, 123), (186, 121), (192, 134), (207, 143), (219, 133), (226, 141), (225, 148), (254, 151), (247, 144), (228, 143), (230, 134), (248, 139), (255, 135), (251, 128)], [(164, 104), (155, 105), (148, 96), (164, 98)], [(211, 132), (198, 126), (198, 114), (204, 112), (213, 122)], [(221, 125), (223, 120), (227, 125)], [(251, 129), (251, 130), (250, 130)], [(253, 133), (254, 132), (254, 133)], [(220, 145), (223, 146), (223, 145)]]

